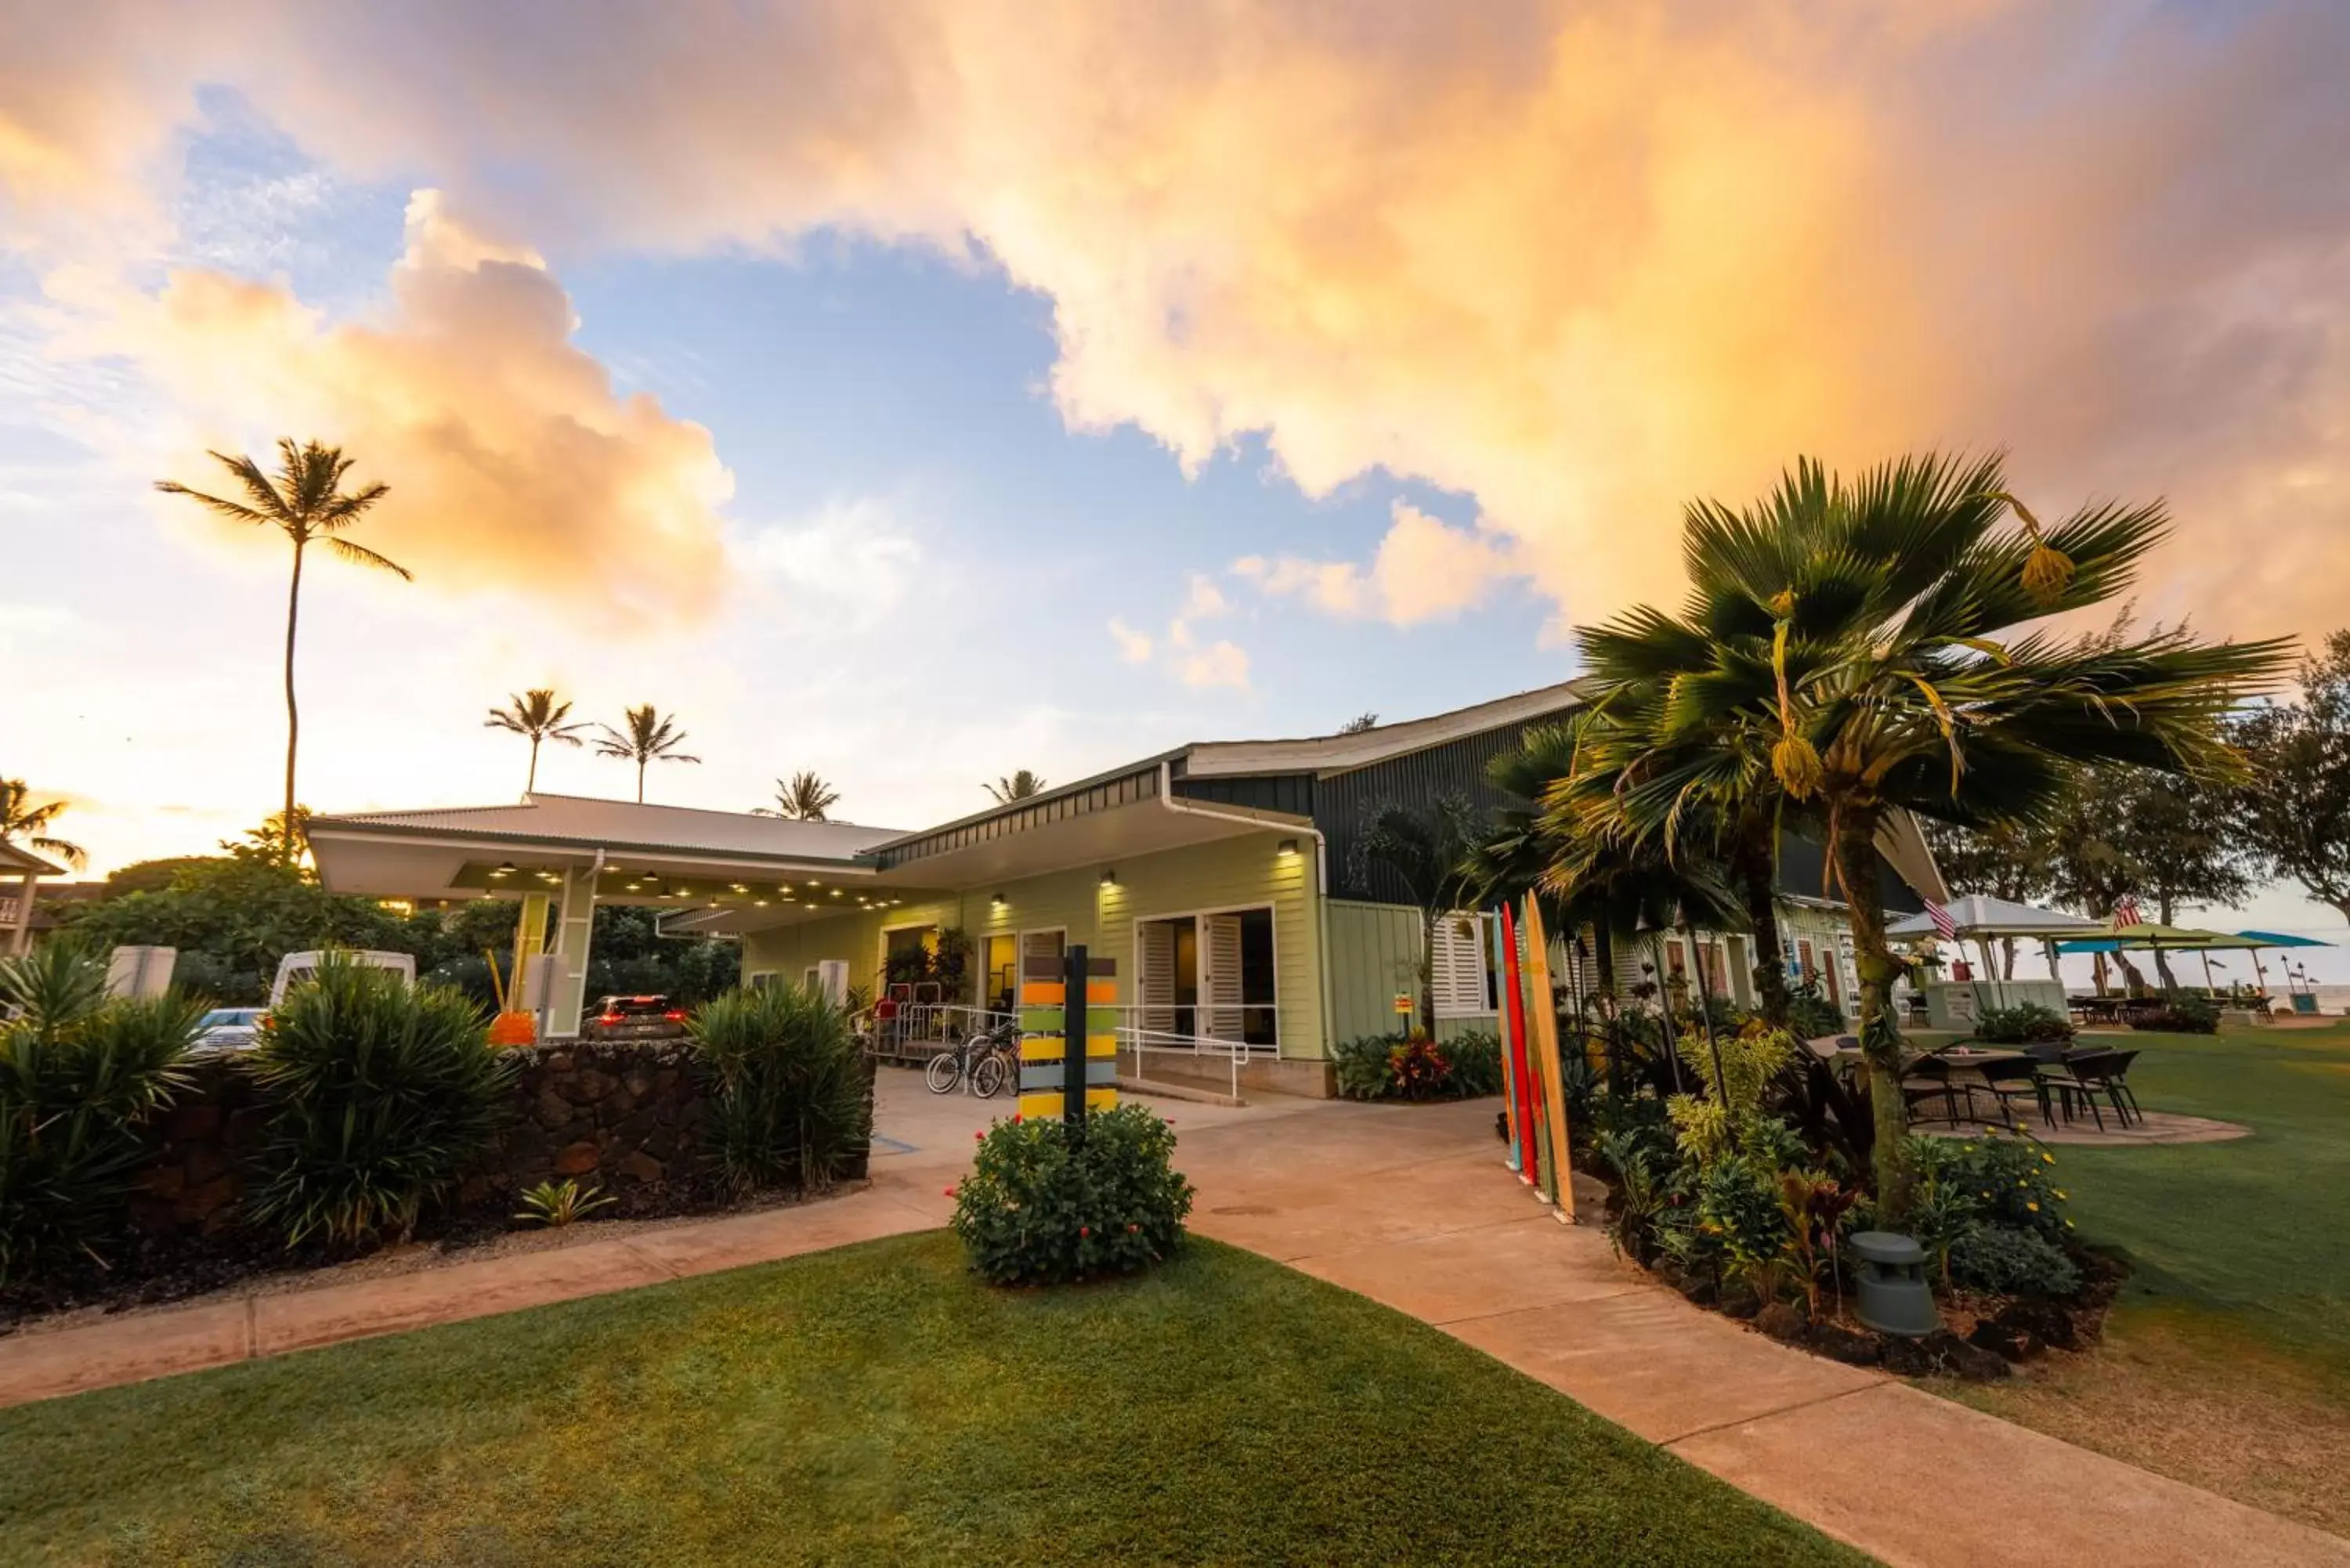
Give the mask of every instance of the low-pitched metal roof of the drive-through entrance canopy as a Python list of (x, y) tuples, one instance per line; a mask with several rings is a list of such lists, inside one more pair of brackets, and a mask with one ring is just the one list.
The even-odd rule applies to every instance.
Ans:
[(895, 827), (858, 823), (792, 823), (745, 811), (698, 806), (639, 806), (588, 795), (524, 795), (512, 806), (439, 806), (428, 811), (355, 811), (310, 820), (310, 837), (336, 832), (425, 832), (463, 839), (522, 839), (543, 844), (602, 844), (609, 849), (705, 851), (776, 860), (855, 860), (877, 844), (902, 837)]

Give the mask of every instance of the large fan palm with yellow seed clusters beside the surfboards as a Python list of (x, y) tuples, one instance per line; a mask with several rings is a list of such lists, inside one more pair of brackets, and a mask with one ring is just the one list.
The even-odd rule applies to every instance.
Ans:
[[(2000, 527), (2009, 512), (2019, 531)], [(2099, 503), (2042, 529), (1995, 456), (1911, 456), (1852, 480), (1800, 461), (1744, 512), (1690, 508), (1680, 616), (1640, 607), (1579, 632), (1596, 703), (1652, 708), (1617, 788), (1638, 832), (1774, 797), (1824, 825), (1894, 1222), (1911, 1171), (1875, 849), (1889, 816), (2037, 823), (2084, 762), (2225, 771), (2230, 705), (2284, 675), (2284, 639), (2026, 630), (2122, 592), (2167, 534), (2160, 503)]]

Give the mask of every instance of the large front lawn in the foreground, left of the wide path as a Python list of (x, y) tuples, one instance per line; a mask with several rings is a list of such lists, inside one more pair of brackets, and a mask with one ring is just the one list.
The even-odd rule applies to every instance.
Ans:
[(0, 1410), (0, 1556), (1856, 1563), (1445, 1335), (1194, 1241), (931, 1232)]

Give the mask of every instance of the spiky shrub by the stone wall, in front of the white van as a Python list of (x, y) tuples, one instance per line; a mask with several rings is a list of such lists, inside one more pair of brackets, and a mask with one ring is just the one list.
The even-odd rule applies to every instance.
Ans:
[(251, 1215), (287, 1246), (409, 1237), (496, 1138), (517, 1070), (463, 992), (336, 954), (242, 1065), (268, 1119)]

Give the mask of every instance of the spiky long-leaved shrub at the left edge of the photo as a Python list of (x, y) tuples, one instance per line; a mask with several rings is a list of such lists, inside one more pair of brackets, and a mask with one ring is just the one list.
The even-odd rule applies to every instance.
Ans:
[(45, 1253), (94, 1251), (120, 1218), (139, 1126), (186, 1086), (204, 1009), (179, 992), (106, 997), (106, 961), (75, 943), (0, 959), (0, 1284)]

